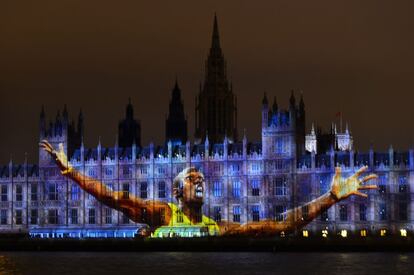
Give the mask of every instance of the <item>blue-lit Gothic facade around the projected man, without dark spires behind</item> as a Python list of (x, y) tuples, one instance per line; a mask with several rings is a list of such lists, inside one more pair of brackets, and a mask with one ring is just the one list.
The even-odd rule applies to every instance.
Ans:
[[(293, 108), (295, 107), (295, 108)], [(201, 144), (150, 144), (139, 147), (84, 148), (70, 153), (72, 124), (58, 119), (43, 128), (39, 139), (63, 144), (70, 163), (105, 183), (113, 191), (146, 200), (175, 202), (174, 177), (196, 167), (206, 179), (203, 213), (216, 221), (248, 223), (263, 219), (281, 221), (284, 212), (327, 192), (335, 166), (344, 176), (362, 165), (379, 178), (378, 190), (368, 198), (350, 197), (323, 212), (300, 235), (411, 234), (414, 221), (414, 151), (366, 153), (349, 146), (327, 152), (310, 150), (297, 157), (297, 108), (286, 110), (262, 104), (262, 138), (249, 142)], [(45, 114), (42, 111), (41, 120)], [(83, 122), (82, 122), (83, 123)], [(72, 125), (72, 126), (71, 126)], [(312, 135), (314, 129), (311, 130)], [(349, 131), (348, 131), (349, 133)], [(338, 135), (337, 135), (338, 137)], [(317, 138), (317, 137), (316, 137)], [(306, 139), (310, 146), (314, 139)], [(349, 149), (349, 150), (348, 150)], [(304, 213), (306, 211), (304, 210)], [(102, 205), (63, 177), (54, 161), (39, 150), (39, 164), (12, 162), (0, 169), (0, 231), (29, 232), (42, 237), (131, 237), (143, 224)], [(408, 233), (407, 233), (408, 232)]]

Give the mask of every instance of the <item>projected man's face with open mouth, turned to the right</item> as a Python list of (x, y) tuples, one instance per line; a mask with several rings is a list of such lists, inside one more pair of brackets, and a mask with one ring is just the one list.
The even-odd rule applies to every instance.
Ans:
[(200, 172), (189, 172), (183, 180), (183, 202), (199, 204), (204, 202), (204, 176)]

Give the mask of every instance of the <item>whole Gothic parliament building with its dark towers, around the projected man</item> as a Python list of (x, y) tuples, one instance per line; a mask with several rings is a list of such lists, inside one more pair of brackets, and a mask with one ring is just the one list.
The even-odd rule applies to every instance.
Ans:
[[(173, 85), (165, 122), (165, 143), (141, 143), (141, 125), (129, 100), (116, 144), (85, 148), (82, 113), (70, 120), (66, 106), (54, 122), (40, 113), (39, 141), (61, 143), (71, 165), (110, 190), (142, 199), (172, 202), (174, 177), (186, 167), (205, 176), (203, 213), (216, 222), (283, 221), (285, 211), (330, 190), (335, 167), (344, 175), (363, 165), (378, 175), (378, 190), (352, 196), (297, 230), (298, 236), (387, 236), (414, 233), (414, 151), (358, 152), (353, 138), (335, 124), (328, 132), (306, 130), (305, 103), (292, 91), (287, 108), (263, 96), (261, 140), (238, 136), (237, 98), (227, 78), (226, 60), (214, 18), (204, 81), (195, 98), (194, 143), (178, 82)], [(255, 103), (252, 103), (255, 104)], [(34, 146), (37, 146), (36, 144)], [(149, 204), (151, 205), (151, 204)], [(150, 207), (150, 206), (149, 206)], [(306, 213), (306, 211), (303, 211)], [(38, 164), (0, 167), (0, 233), (43, 238), (133, 237), (145, 225), (106, 207), (61, 175), (39, 149)], [(186, 235), (188, 237), (188, 235)]]

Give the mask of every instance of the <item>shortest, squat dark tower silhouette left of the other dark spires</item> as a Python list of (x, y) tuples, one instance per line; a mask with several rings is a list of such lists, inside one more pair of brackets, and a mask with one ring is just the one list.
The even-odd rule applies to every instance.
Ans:
[(135, 143), (141, 147), (141, 124), (134, 119), (131, 98), (128, 100), (125, 113), (125, 119), (118, 124), (118, 144), (120, 147), (130, 147)]

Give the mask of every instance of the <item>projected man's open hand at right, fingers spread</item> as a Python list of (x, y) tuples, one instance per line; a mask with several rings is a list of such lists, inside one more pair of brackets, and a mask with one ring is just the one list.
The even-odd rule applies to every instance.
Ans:
[(349, 178), (341, 177), (341, 167), (336, 167), (335, 176), (332, 179), (331, 194), (335, 200), (343, 200), (351, 195), (361, 196), (363, 198), (368, 197), (367, 194), (360, 192), (360, 190), (377, 189), (376, 185), (362, 185), (369, 180), (378, 178), (375, 174), (359, 179), (359, 177), (368, 169), (368, 166), (361, 167), (355, 174)]

